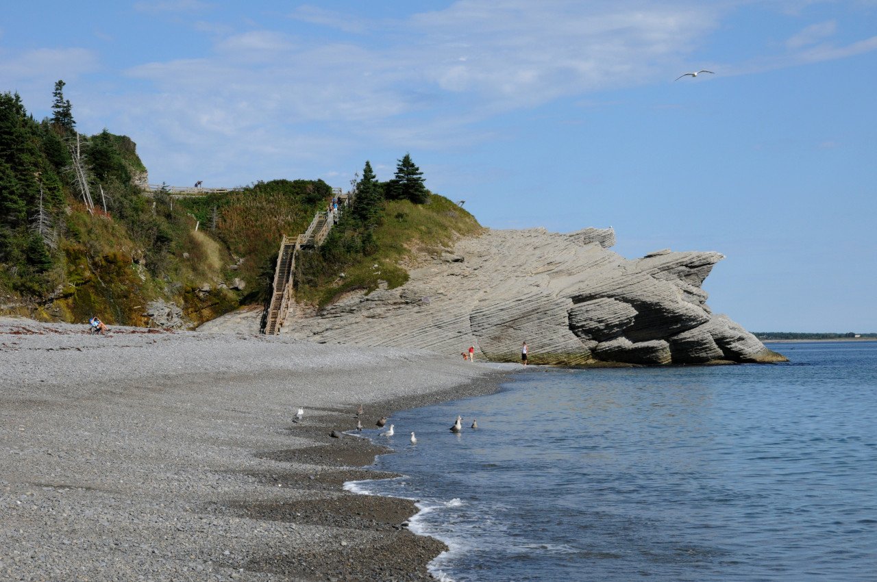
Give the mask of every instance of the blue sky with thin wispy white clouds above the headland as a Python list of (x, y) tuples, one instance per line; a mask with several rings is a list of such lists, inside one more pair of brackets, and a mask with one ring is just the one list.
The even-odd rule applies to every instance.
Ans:
[(709, 306), (749, 330), (877, 332), (877, 0), (8, 4), (0, 91), (39, 119), (63, 79), (153, 183), (410, 153), (490, 228), (722, 252)]

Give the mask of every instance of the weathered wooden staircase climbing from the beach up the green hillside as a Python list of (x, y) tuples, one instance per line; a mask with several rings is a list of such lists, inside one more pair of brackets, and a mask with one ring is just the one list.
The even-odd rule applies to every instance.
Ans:
[[(333, 188), (333, 194), (339, 200), (338, 213), (353, 201), (353, 193), (341, 194), (341, 188)], [(334, 214), (334, 213), (333, 213)], [(303, 248), (317, 248), (323, 244), (325, 238), (332, 231), (336, 216), (328, 211), (317, 212), (310, 221), (308, 230), (296, 238), (283, 235), (280, 251), (277, 252), (277, 266), (275, 266), (275, 281), (271, 291), (271, 302), (268, 303), (263, 322), (262, 333), (267, 336), (276, 336), (280, 333), (283, 323), (289, 312), (289, 303), (292, 302), (295, 289), (293, 273), (296, 270), (296, 255)]]

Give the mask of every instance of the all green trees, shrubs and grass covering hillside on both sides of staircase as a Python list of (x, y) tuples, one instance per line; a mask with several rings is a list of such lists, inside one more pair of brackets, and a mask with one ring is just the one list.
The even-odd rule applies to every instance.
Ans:
[[(197, 324), (264, 303), (282, 236), (305, 231), (332, 188), (276, 180), (192, 198), (146, 193), (131, 138), (78, 134), (64, 86), (39, 122), (17, 94), (0, 95), (0, 314), (148, 325), (147, 303), (163, 300)], [(300, 255), (297, 301), (398, 287), (403, 265), (481, 230), (426, 189), (407, 153), (386, 182), (366, 162), (356, 190), (324, 245)]]

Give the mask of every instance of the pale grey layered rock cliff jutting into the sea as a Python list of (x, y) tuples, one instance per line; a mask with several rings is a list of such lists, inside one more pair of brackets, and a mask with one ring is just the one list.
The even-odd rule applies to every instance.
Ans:
[(310, 341), (417, 347), (537, 364), (785, 361), (706, 304), (717, 252), (624, 259), (610, 229), (488, 231), (465, 238), (396, 289), (355, 294), (282, 331)]

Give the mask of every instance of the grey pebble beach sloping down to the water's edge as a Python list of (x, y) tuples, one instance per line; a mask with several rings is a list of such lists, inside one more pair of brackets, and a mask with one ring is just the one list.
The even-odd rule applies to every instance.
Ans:
[(385, 450), (330, 432), (360, 402), (370, 427), (502, 378), (424, 351), (0, 318), (0, 579), (431, 579), (444, 545), (405, 529), (413, 504), (341, 488), (381, 477), (361, 467)]

